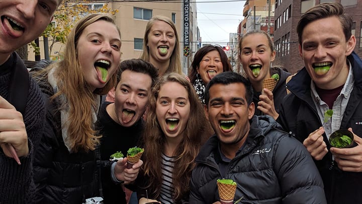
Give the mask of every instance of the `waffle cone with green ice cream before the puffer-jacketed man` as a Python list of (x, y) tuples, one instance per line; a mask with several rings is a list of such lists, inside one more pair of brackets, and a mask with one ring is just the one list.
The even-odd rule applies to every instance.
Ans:
[(222, 204), (233, 203), (237, 184), (231, 179), (217, 180), (220, 202)]

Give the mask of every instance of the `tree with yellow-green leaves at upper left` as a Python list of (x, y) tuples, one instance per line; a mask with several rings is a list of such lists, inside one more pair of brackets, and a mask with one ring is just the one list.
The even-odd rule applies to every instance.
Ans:
[[(41, 36), (49, 39), (49, 53), (52, 53), (52, 48), (55, 43), (65, 43), (74, 24), (82, 17), (93, 13), (108, 13), (115, 15), (118, 10), (108, 8), (108, 4), (96, 3), (96, 1), (80, 0), (77, 3), (74, 1), (64, 0), (62, 5), (54, 13), (53, 21), (48, 25)], [(80, 3), (79, 3), (80, 2)], [(40, 48), (34, 43), (30, 43), (34, 48), (35, 54), (40, 54)], [(59, 55), (60, 53), (57, 53)], [(50, 55), (52, 59), (56, 56)]]

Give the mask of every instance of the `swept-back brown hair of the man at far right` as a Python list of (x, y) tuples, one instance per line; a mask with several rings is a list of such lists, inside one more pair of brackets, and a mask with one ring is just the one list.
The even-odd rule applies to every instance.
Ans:
[(352, 35), (351, 28), (353, 20), (344, 12), (344, 8), (340, 3), (331, 2), (316, 5), (303, 14), (297, 25), (298, 41), (302, 44), (302, 34), (304, 28), (311, 22), (336, 16), (342, 25), (345, 40), (348, 41)]

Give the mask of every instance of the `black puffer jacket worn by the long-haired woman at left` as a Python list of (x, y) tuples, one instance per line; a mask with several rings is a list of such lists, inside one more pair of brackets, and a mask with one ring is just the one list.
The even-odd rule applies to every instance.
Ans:
[[(46, 65), (46, 63), (41, 66)], [(41, 67), (35, 67), (35, 70)], [(38, 81), (38, 80), (37, 80)], [(38, 81), (46, 98), (45, 131), (35, 155), (35, 203), (82, 203), (99, 195), (97, 164), (93, 151), (69, 153), (61, 133), (60, 104), (47, 77)]]

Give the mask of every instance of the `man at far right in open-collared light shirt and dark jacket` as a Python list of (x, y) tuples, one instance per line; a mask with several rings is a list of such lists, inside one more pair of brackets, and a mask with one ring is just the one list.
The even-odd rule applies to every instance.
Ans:
[[(316, 5), (297, 26), (305, 67), (287, 84), (291, 91), (277, 119), (314, 158), (328, 203), (362, 200), (362, 61), (353, 52), (352, 19), (339, 3)], [(327, 122), (324, 113), (333, 110)], [(338, 129), (354, 132), (356, 147), (332, 148)]]

